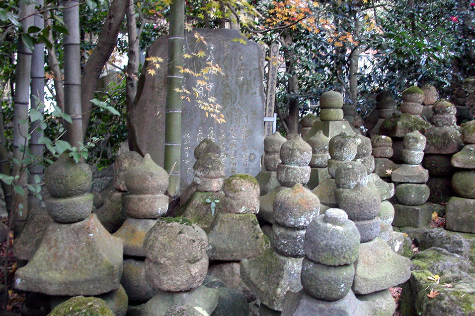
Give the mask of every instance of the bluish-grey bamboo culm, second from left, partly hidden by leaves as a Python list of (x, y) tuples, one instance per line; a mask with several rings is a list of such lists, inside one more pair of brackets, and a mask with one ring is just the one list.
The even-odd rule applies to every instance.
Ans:
[[(37, 0), (36, 4), (43, 6), (43, 0)], [(43, 29), (45, 21), (40, 14), (34, 17), (35, 26)], [(45, 92), (45, 44), (40, 43), (35, 45), (31, 61), (31, 108), (37, 109), (40, 113), (44, 113), (43, 101)], [(41, 105), (38, 107), (38, 105)], [(44, 145), (39, 144), (38, 140), (44, 135), (43, 128), (40, 121), (31, 123), (31, 140), (30, 150), (33, 157), (38, 157), (36, 161), (29, 167), (28, 183), (35, 185), (38, 182), (35, 180), (39, 177), (39, 182), (43, 180), (43, 149)], [(28, 210), (31, 212), (41, 206), (41, 200), (34, 196), (32, 191), (28, 191)]]

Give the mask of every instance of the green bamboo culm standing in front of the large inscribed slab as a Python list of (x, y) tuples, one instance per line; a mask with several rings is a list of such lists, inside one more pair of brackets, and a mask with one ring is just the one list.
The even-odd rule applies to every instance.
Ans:
[(183, 75), (183, 43), (185, 1), (173, 0), (170, 7), (168, 33), (168, 73), (165, 103), (165, 151), (164, 167), (168, 172), (168, 194), (176, 198), (180, 194), (181, 160), (181, 92)]

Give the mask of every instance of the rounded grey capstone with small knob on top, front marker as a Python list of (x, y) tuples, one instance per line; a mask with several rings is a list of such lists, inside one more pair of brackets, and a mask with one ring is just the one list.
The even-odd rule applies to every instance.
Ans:
[(304, 251), (312, 261), (331, 266), (350, 264), (358, 259), (359, 245), (358, 229), (341, 209), (329, 208), (307, 226)]

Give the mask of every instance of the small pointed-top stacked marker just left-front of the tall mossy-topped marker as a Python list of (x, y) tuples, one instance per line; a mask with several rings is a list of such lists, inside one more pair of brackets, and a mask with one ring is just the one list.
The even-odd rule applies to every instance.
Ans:
[(315, 189), (323, 179), (330, 178), (327, 170), (327, 161), (330, 159), (328, 153), (328, 137), (321, 130), (310, 137), (307, 142), (312, 147), (312, 159), (310, 160), (310, 180), (307, 187), (310, 190)]

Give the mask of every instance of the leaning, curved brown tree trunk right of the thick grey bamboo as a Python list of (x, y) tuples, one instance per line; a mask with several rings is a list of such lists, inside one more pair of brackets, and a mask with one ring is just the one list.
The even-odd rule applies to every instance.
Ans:
[(104, 25), (100, 31), (97, 45), (84, 65), (81, 78), (82, 90), (80, 100), (82, 109), (82, 130), (84, 135), (87, 125), (89, 124), (91, 110), (91, 103), (89, 101), (94, 98), (102, 68), (114, 51), (117, 43), (117, 35), (119, 34), (119, 29), (124, 20), (128, 5), (129, 0), (112, 0)]

